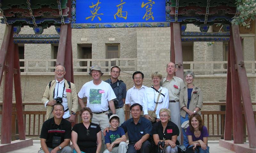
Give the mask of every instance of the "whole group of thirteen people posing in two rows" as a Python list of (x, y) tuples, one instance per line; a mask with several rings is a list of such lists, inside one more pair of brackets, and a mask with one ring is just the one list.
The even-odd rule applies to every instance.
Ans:
[[(200, 116), (202, 91), (194, 86), (192, 71), (185, 72), (186, 86), (175, 76), (176, 71), (176, 65), (170, 62), (167, 77), (162, 78), (158, 72), (152, 74), (151, 87), (143, 85), (144, 74), (136, 71), (132, 75), (134, 85), (126, 92), (126, 84), (118, 80), (119, 67), (112, 67), (110, 78), (102, 81), (100, 67), (93, 66), (89, 72), (92, 81), (85, 83), (77, 94), (75, 84), (64, 79), (65, 68), (57, 66), (55, 80), (47, 84), (42, 97), (48, 120), (42, 126), (39, 153), (149, 153), (154, 148), (175, 153), (181, 131), (186, 148), (209, 152), (208, 131)], [(71, 129), (78, 103), (82, 122)], [(126, 121), (124, 104), (131, 111)]]

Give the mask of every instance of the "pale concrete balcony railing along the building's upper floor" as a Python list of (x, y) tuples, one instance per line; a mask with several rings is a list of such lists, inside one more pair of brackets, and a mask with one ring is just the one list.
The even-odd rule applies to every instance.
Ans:
[[(41, 72), (53, 72), (56, 59), (20, 59), (22, 75)], [(23, 66), (24, 65), (24, 66)], [(74, 72), (88, 74), (91, 66), (99, 65), (103, 72), (110, 72), (111, 66), (119, 66), (124, 72), (137, 71), (137, 58), (113, 58), (113, 59), (73, 59)], [(244, 61), (247, 74), (256, 73), (256, 61)], [(184, 71), (192, 70), (197, 75), (214, 75), (227, 73), (227, 61), (191, 61), (183, 62)], [(47, 73), (46, 73), (47, 74)]]

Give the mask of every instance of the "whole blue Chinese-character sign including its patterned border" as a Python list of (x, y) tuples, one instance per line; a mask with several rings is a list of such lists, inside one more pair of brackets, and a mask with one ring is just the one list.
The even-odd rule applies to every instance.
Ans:
[(169, 0), (72, 0), (72, 28), (169, 26)]

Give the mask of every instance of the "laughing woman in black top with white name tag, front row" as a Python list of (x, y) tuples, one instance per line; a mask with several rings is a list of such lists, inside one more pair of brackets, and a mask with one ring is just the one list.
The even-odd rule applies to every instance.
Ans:
[(102, 139), (100, 126), (91, 123), (92, 111), (90, 108), (82, 108), (80, 115), (83, 122), (76, 124), (71, 133), (73, 153), (99, 153)]

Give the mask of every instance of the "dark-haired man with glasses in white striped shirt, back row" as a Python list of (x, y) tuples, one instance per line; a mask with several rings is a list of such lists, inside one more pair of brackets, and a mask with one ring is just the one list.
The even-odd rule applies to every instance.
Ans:
[(143, 78), (144, 74), (140, 71), (136, 71), (132, 75), (134, 85), (127, 91), (125, 98), (125, 104), (128, 104), (129, 109), (132, 104), (138, 103), (144, 107), (147, 103), (144, 96), (148, 87), (143, 85)]

